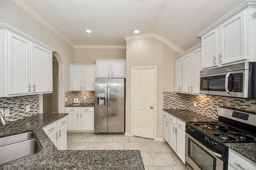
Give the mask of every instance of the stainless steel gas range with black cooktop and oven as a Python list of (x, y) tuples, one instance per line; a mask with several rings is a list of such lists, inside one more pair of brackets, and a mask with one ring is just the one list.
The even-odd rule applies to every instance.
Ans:
[(255, 143), (256, 113), (219, 107), (216, 122), (187, 122), (185, 160), (188, 170), (227, 170), (225, 143)]

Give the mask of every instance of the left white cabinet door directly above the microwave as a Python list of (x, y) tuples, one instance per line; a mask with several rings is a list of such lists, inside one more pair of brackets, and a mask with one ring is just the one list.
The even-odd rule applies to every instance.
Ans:
[(218, 29), (202, 36), (202, 68), (218, 66)]

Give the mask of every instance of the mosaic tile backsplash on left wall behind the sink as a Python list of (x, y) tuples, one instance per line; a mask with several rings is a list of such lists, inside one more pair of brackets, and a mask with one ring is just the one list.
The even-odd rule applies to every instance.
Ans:
[[(26, 112), (26, 105), (30, 111)], [(5, 117), (7, 122), (13, 122), (39, 113), (39, 95), (16, 96), (0, 98), (0, 110), (10, 109), (10, 116)]]

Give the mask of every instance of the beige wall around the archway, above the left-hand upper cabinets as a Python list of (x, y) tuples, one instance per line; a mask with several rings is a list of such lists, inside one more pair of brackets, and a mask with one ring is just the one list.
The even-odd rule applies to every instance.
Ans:
[(0, 23), (7, 23), (56, 50), (54, 55), (59, 63), (60, 83), (59, 112), (64, 112), (64, 92), (69, 90), (69, 64), (74, 62), (74, 48), (13, 1), (0, 1)]

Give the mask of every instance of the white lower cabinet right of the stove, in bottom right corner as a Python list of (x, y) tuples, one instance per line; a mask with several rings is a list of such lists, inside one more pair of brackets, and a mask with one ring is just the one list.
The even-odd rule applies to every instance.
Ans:
[(256, 163), (229, 148), (228, 170), (256, 170)]

